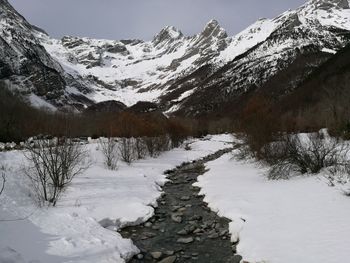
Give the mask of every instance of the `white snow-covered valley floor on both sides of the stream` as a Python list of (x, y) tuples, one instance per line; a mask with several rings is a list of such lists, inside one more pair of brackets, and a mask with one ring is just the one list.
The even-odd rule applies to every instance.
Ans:
[[(91, 168), (74, 179), (57, 207), (40, 209), (30, 196), (21, 152), (0, 153), (7, 175), (0, 196), (0, 262), (124, 262), (138, 248), (111, 230), (153, 216), (164, 171), (232, 147), (233, 141), (230, 135), (195, 139), (191, 150), (177, 148), (131, 166), (120, 162), (117, 171), (104, 168), (98, 145), (90, 143)], [(206, 167), (194, 185), (213, 211), (232, 220), (231, 239), (239, 239), (244, 260), (336, 263), (350, 257), (350, 198), (340, 187), (329, 187), (322, 174), (268, 181), (264, 168), (238, 162), (232, 153)]]

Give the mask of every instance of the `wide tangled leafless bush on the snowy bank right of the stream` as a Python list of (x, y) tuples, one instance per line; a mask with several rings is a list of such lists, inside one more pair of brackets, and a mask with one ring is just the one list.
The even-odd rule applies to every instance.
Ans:
[[(269, 148), (270, 147), (270, 148)], [(350, 147), (322, 133), (285, 135), (279, 142), (268, 146), (265, 153), (272, 164), (269, 179), (287, 179), (292, 172), (316, 174), (326, 167), (339, 169), (346, 165)]]

